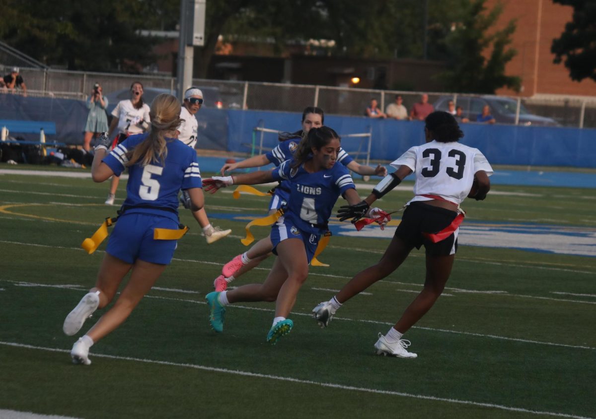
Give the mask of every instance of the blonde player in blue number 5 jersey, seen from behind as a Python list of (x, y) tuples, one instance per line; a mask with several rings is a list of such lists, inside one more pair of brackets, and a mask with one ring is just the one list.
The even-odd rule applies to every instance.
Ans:
[[(79, 332), (86, 318), (104, 308), (116, 295), (122, 279), (131, 279), (116, 303), (80, 337), (70, 352), (73, 362), (89, 365), (89, 348), (126, 320), (172, 261), (179, 235), (178, 192), (187, 190), (194, 211), (203, 207), (197, 154), (176, 140), (180, 104), (172, 95), (157, 96), (151, 105), (147, 134), (128, 137), (107, 154), (110, 139), (102, 135), (91, 167), (94, 182), (119, 176), (129, 168), (126, 200), (110, 235), (95, 287), (89, 290), (66, 320), (69, 336)], [(164, 233), (164, 239), (160, 234)]]

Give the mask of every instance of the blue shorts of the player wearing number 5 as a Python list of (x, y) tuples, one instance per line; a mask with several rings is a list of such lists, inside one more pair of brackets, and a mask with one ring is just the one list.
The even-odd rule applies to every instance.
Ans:
[(124, 214), (118, 218), (105, 252), (133, 264), (136, 259), (160, 265), (172, 261), (178, 240), (154, 240), (153, 229), (178, 229), (169, 217), (154, 214)]

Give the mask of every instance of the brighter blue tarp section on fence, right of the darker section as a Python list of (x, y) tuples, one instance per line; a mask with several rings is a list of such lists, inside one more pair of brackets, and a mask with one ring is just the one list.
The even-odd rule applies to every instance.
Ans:
[[(228, 150), (249, 151), (256, 126), (284, 131), (300, 129), (299, 113), (228, 110)], [(372, 129), (373, 160), (392, 160), (414, 145), (424, 142), (420, 121), (372, 120), (366, 117), (327, 115), (325, 125), (340, 135), (364, 133)], [(528, 127), (512, 125), (461, 124), (462, 143), (479, 148), (493, 164), (596, 167), (596, 129)], [(256, 143), (259, 143), (257, 133)], [(354, 139), (343, 142), (346, 151), (354, 149)], [(263, 136), (263, 146), (272, 147), (277, 137)]]

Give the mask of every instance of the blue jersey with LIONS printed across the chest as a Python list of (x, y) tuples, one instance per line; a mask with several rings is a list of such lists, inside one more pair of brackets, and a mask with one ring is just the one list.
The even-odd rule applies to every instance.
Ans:
[(285, 180), (290, 187), (290, 200), (285, 217), (306, 233), (321, 234), (327, 230), (337, 198), (347, 189), (356, 189), (349, 170), (342, 164), (309, 173), (294, 160), (286, 160), (272, 171), (274, 180)]

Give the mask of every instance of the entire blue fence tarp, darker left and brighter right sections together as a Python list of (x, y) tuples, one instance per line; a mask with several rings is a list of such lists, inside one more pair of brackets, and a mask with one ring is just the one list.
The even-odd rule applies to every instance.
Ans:
[[(55, 140), (80, 145), (83, 141), (88, 110), (84, 101), (75, 99), (23, 98), (0, 95), (0, 119), (54, 121)], [(300, 129), (299, 112), (217, 110), (203, 108), (197, 113), (198, 148), (250, 152), (253, 130), (257, 126), (282, 131)], [(392, 160), (414, 145), (424, 142), (424, 124), (419, 121), (373, 120), (366, 117), (327, 115), (325, 125), (340, 135), (372, 130), (371, 158)], [(493, 164), (596, 167), (596, 129), (527, 127), (511, 125), (461, 124), (462, 143), (479, 148)], [(11, 135), (19, 135), (11, 133)], [(38, 139), (38, 135), (23, 135)], [(49, 138), (54, 140), (54, 138)], [(259, 144), (260, 133), (254, 140)], [(277, 136), (266, 133), (263, 146), (272, 148)], [(358, 138), (345, 138), (348, 152), (366, 144)], [(360, 157), (363, 157), (361, 155)]]

